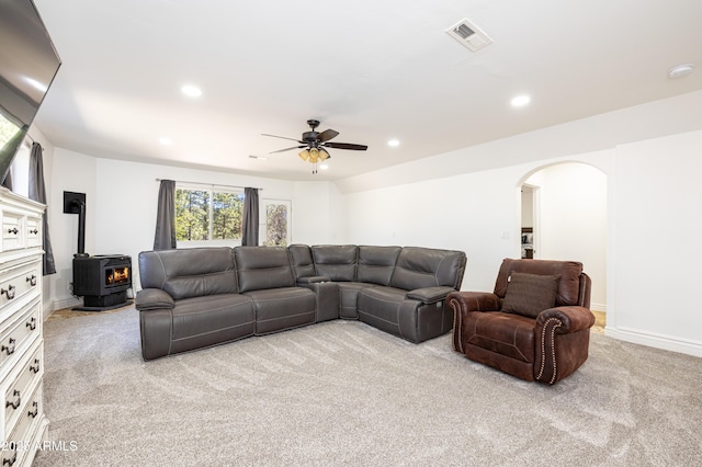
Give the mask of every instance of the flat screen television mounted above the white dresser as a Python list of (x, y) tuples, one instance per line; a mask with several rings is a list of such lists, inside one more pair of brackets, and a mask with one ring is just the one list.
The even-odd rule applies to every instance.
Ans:
[(0, 0), (0, 183), (61, 60), (32, 0)]

